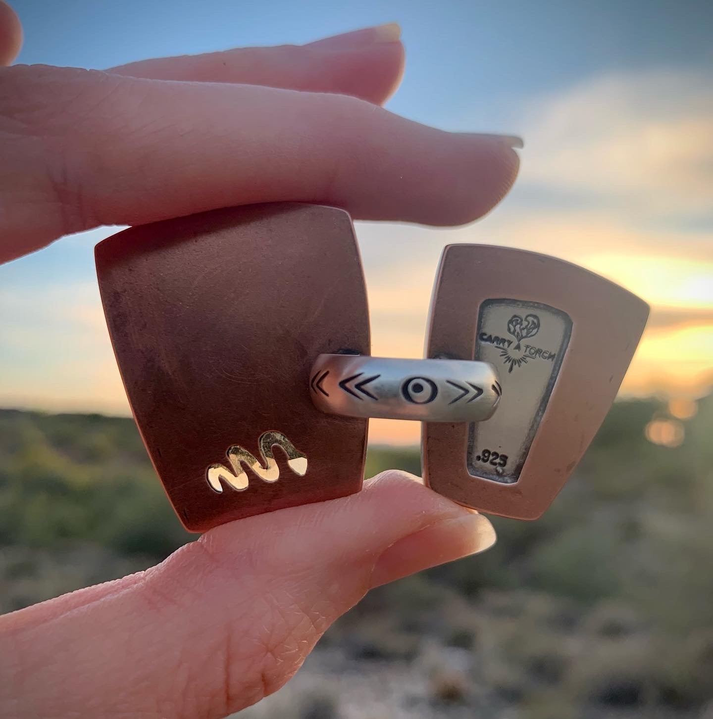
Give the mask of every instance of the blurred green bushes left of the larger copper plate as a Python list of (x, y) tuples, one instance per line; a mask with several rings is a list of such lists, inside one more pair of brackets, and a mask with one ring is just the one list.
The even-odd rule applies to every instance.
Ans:
[(0, 411), (0, 544), (159, 559), (190, 538), (130, 419)]

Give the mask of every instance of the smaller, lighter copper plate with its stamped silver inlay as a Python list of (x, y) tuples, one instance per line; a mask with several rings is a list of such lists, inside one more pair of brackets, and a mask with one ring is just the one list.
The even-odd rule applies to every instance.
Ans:
[(446, 247), (427, 357), (491, 362), (502, 397), (488, 421), (424, 424), (427, 484), (484, 512), (541, 516), (604, 420), (647, 318), (640, 298), (569, 262)]

